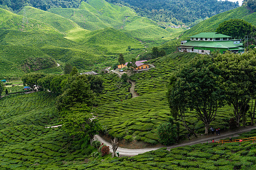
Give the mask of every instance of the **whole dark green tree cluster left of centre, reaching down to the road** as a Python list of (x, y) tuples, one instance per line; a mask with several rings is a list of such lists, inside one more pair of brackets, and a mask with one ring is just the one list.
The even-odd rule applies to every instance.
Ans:
[(56, 107), (61, 116), (64, 130), (72, 136), (85, 141), (101, 130), (97, 110), (94, 109), (95, 95), (104, 89), (99, 76), (80, 75), (73, 67), (65, 67), (64, 75), (30, 73), (22, 77), (24, 86), (37, 87), (40, 91), (49, 90), (57, 95)]

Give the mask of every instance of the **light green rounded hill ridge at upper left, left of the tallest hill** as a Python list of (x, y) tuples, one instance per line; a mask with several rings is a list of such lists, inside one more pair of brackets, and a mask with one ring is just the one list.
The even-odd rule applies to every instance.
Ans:
[(32, 18), (40, 20), (43, 23), (47, 23), (56, 28), (61, 33), (67, 33), (69, 30), (79, 27), (79, 25), (77, 25), (72, 20), (63, 18), (62, 16), (56, 14), (52, 14), (51, 12), (39, 10), (38, 8), (31, 6), (23, 7), (18, 14), (24, 16), (24, 19)]

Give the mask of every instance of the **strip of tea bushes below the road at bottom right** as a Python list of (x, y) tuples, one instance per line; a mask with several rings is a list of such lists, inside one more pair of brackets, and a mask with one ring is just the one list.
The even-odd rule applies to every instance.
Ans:
[[(242, 134), (255, 137), (256, 130)], [(202, 143), (193, 146), (166, 148), (133, 157), (92, 160), (87, 164), (70, 165), (68, 169), (255, 169), (256, 143)], [(64, 169), (59, 167), (59, 169)]]

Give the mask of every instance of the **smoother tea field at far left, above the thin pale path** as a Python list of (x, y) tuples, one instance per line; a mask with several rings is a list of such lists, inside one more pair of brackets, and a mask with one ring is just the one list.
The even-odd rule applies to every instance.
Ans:
[(56, 97), (45, 92), (14, 94), (0, 100), (0, 129), (18, 125), (46, 126), (58, 117)]

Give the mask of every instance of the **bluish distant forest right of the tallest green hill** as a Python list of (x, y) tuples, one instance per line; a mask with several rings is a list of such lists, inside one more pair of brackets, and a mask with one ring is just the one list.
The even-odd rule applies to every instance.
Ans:
[(138, 14), (158, 22), (193, 23), (238, 7), (238, 3), (217, 0), (106, 0), (132, 6)]

